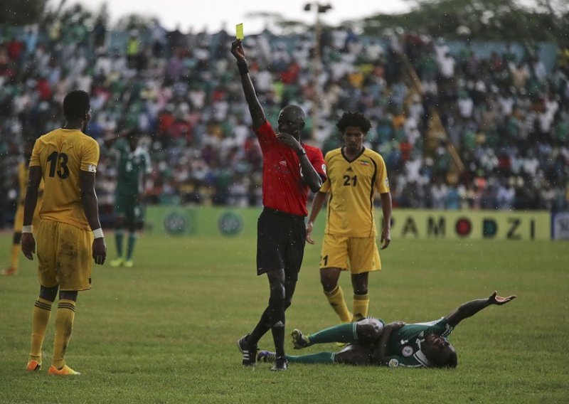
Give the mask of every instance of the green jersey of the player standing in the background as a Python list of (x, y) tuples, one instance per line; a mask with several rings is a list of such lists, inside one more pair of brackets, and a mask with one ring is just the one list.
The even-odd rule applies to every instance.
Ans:
[(152, 171), (150, 156), (142, 147), (132, 151), (124, 139), (117, 140), (115, 149), (119, 159), (117, 193), (138, 196), (144, 189), (144, 176)]

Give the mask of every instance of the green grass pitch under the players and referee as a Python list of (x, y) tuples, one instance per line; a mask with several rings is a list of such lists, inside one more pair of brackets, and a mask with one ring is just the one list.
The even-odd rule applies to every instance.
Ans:
[[(0, 264), (11, 235), (0, 235)], [(112, 235), (107, 236), (110, 257)], [(78, 378), (26, 374), (36, 262), (0, 277), (3, 403), (565, 403), (569, 401), (568, 245), (554, 242), (394, 240), (384, 270), (371, 275), (370, 314), (428, 321), (458, 304), (517, 294), (451, 335), (459, 366), (449, 370), (302, 366), (286, 373), (240, 365), (235, 341), (267, 303), (255, 275), (254, 238), (142, 235), (132, 269), (95, 267), (81, 292), (67, 361)], [(307, 246), (287, 328), (336, 324), (319, 285), (319, 246)], [(349, 277), (341, 285), (350, 296)], [(351, 299), (349, 299), (351, 307)], [(272, 348), (267, 334), (260, 347)], [(287, 345), (289, 353), (292, 346)], [(307, 352), (334, 350), (315, 346)]]

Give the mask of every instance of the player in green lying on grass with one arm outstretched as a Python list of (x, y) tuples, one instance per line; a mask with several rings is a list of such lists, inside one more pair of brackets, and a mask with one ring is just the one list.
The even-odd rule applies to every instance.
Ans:
[[(446, 317), (428, 323), (405, 324), (395, 321), (385, 325), (381, 320), (368, 317), (355, 323), (332, 326), (311, 335), (304, 335), (295, 329), (292, 331), (294, 349), (331, 342), (344, 342), (348, 345), (335, 353), (287, 355), (287, 359), (291, 363), (455, 368), (457, 353), (447, 340), (454, 327), (492, 304), (506, 304), (515, 298), (516, 296), (499, 297), (494, 292), (486, 299), (466, 302)], [(275, 353), (270, 351), (260, 351), (257, 355), (260, 362), (271, 362), (274, 359)]]

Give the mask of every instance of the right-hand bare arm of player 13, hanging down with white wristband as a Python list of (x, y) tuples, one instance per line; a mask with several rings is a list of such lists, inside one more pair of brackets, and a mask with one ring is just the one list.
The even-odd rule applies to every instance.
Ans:
[[(99, 230), (102, 235), (101, 222), (99, 220), (99, 208), (97, 204), (97, 193), (95, 193), (95, 173), (89, 171), (79, 171), (79, 181), (81, 186), (81, 204), (87, 222), (91, 230)], [(95, 238), (92, 246), (92, 256), (95, 264), (103, 265), (107, 258), (107, 245), (105, 238)]]

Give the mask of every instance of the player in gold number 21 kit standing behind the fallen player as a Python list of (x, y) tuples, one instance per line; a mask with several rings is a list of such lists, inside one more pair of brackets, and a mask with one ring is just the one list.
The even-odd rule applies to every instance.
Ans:
[[(371, 122), (359, 112), (345, 112), (336, 123), (344, 147), (326, 153), (328, 179), (314, 196), (307, 222), (307, 242), (314, 244), (314, 220), (328, 198), (328, 215), (320, 261), (320, 281), (324, 294), (341, 322), (357, 321), (368, 314), (368, 275), (381, 270), (376, 245), (374, 194), (381, 198), (383, 230), (381, 249), (391, 242), (391, 194), (385, 162), (376, 151), (363, 147)], [(353, 310), (349, 311), (338, 285), (340, 273), (351, 271)]]

